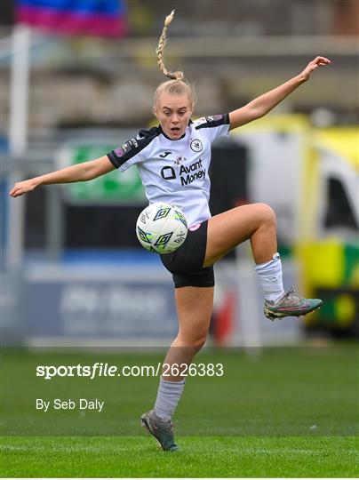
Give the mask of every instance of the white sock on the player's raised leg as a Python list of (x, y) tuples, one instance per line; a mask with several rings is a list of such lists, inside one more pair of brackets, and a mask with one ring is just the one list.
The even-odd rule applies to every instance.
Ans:
[(279, 253), (275, 253), (272, 260), (256, 265), (254, 269), (259, 275), (266, 300), (276, 301), (283, 296), (282, 261)]

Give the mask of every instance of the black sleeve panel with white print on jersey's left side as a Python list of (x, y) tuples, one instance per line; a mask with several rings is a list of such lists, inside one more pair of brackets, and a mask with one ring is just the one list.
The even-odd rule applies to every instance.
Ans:
[[(160, 127), (152, 127), (148, 130), (140, 130), (138, 136), (127, 140), (121, 147), (115, 148), (108, 153), (108, 159), (116, 168), (120, 168), (132, 156), (136, 156), (143, 148), (146, 148), (152, 140), (162, 133)], [(119, 155), (120, 154), (120, 155)]]

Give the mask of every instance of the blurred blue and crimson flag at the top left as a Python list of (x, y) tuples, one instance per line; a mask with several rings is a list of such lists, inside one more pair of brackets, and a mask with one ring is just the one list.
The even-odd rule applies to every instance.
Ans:
[(64, 35), (124, 36), (123, 0), (16, 0), (16, 22)]

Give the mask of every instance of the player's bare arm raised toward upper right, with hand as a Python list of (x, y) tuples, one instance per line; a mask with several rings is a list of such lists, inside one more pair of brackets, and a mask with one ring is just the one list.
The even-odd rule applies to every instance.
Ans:
[(285, 84), (276, 87), (270, 92), (260, 95), (260, 97), (257, 99), (251, 100), (251, 102), (244, 107), (230, 112), (230, 129), (232, 130), (233, 128), (241, 125), (249, 124), (253, 120), (267, 115), (272, 108), (275, 108), (275, 106), (288, 97), (291, 92), (294, 92), (299, 85), (307, 82), (309, 76), (311, 76), (316, 68), (329, 65), (330, 63), (331, 60), (328, 60), (325, 57), (316, 57), (315, 60), (312, 60), (307, 64), (307, 67), (304, 68), (304, 70), (298, 76), (294, 76)]

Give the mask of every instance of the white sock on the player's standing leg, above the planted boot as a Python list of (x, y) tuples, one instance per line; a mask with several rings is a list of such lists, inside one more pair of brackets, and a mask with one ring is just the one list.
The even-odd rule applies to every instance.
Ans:
[(171, 420), (177, 404), (180, 402), (185, 383), (184, 379), (167, 381), (161, 378), (155, 404), (155, 413), (161, 420)]

